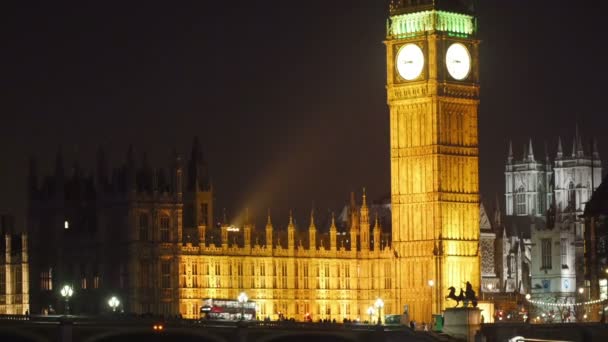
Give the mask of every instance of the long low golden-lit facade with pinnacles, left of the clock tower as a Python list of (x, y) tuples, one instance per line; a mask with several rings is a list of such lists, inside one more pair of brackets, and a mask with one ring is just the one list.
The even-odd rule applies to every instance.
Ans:
[[(329, 234), (319, 234), (312, 214), (306, 232), (296, 231), (291, 217), (286, 229), (275, 229), (269, 216), (257, 234), (251, 224), (238, 231), (223, 224), (218, 245), (203, 239), (198, 246), (184, 246), (180, 313), (197, 318), (201, 299), (236, 300), (242, 291), (258, 305), (260, 319), (276, 320), (282, 314), (300, 321), (308, 315), (314, 321), (365, 321), (377, 298), (385, 302), (382, 315), (398, 311), (393, 252), (381, 243), (378, 222), (371, 227), (365, 197), (359, 210), (351, 208), (351, 215), (348, 232), (339, 233), (332, 220)], [(206, 228), (199, 227), (201, 236), (209, 236)], [(266, 243), (252, 241), (252, 235)], [(375, 321), (377, 313), (371, 318)]]

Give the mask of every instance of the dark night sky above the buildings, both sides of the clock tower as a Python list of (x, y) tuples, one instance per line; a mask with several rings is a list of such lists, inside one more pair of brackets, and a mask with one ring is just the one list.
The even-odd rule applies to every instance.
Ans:
[[(608, 156), (604, 13), (582, 1), (479, 1), (480, 184), (493, 207), (534, 139), (575, 125)], [(584, 6), (583, 6), (584, 5)], [(596, 5), (599, 6), (599, 5)], [(112, 166), (133, 144), (168, 166), (203, 142), (217, 207), (286, 225), (390, 193), (386, 0), (14, 2), (0, 9), (0, 212), (25, 208), (28, 159)]]

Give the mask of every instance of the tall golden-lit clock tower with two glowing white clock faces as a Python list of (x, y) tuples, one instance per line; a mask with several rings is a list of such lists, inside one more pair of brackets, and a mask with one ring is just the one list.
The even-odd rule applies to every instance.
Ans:
[(479, 293), (479, 41), (465, 0), (393, 0), (387, 29), (397, 300), (428, 322)]

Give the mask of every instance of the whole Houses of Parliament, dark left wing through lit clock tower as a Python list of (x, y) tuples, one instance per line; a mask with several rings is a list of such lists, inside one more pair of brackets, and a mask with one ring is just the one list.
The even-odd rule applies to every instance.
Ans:
[(107, 310), (115, 295), (125, 312), (196, 318), (203, 299), (244, 291), (259, 318), (363, 321), (381, 298), (382, 314), (428, 322), (448, 286), (470, 281), (479, 292), (475, 20), (468, 1), (391, 2), (390, 239), (365, 192), (342, 229), (317, 227), (314, 212), (298, 228), (291, 215), (268, 215), (261, 229), (217, 220), (196, 141), (187, 161), (176, 153), (166, 168), (130, 149), (118, 168), (100, 151), (94, 172), (67, 170), (58, 154), (52, 175), (30, 165), (30, 312), (61, 310), (69, 283), (70, 306), (83, 313)]

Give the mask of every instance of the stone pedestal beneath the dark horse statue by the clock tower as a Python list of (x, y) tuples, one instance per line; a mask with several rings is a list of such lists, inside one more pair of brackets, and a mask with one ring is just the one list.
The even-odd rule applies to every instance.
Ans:
[(475, 341), (480, 328), (481, 310), (478, 308), (448, 308), (443, 314), (443, 332), (469, 342)]

